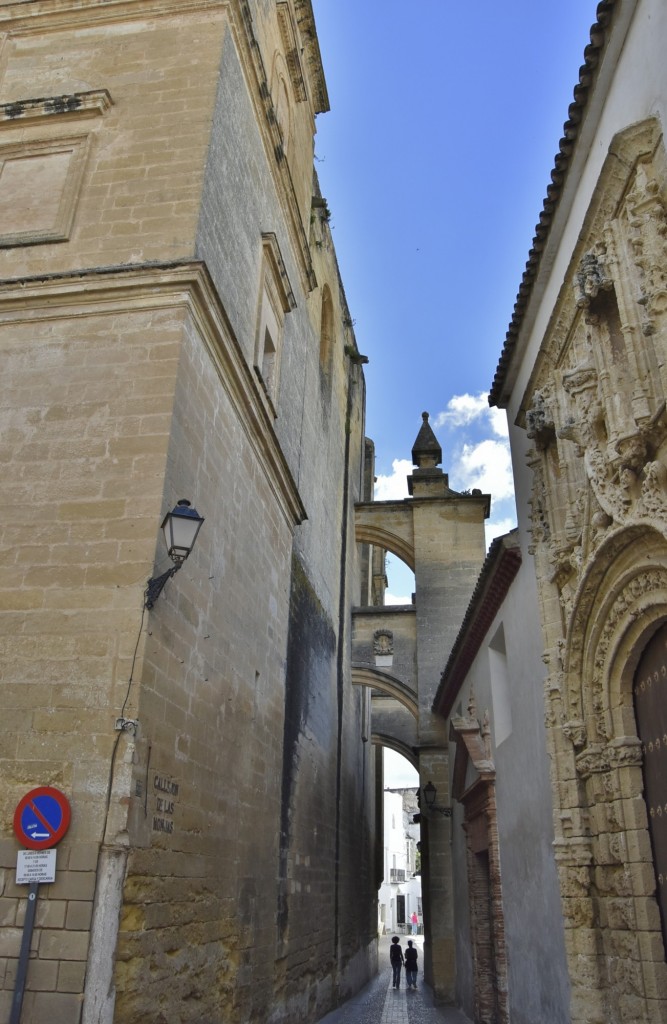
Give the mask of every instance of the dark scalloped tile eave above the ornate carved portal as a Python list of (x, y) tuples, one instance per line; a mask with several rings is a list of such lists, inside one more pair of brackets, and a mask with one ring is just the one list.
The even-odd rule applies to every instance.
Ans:
[[(489, 404), (504, 407), (507, 401), (507, 376), (517, 349), (519, 335), (526, 312), (534, 293), (542, 263), (542, 256), (549, 240), (554, 217), (559, 209), (566, 183), (574, 162), (585, 116), (589, 113), (591, 97), (595, 91), (598, 70), (608, 47), (612, 29), (625, 12), (625, 28), (632, 16), (636, 0), (601, 0), (597, 5), (596, 22), (590, 30), (590, 43), (584, 50), (584, 63), (579, 70), (579, 82), (574, 89), (574, 99), (568, 110), (568, 120), (558, 143), (558, 153), (551, 171), (551, 183), (547, 187), (540, 219), (535, 228), (533, 246), (529, 252), (526, 269), (522, 278), (514, 303), (512, 318), (507, 328), (505, 342), (498, 360), (498, 367), (489, 392)], [(622, 40), (619, 42), (621, 45)]]

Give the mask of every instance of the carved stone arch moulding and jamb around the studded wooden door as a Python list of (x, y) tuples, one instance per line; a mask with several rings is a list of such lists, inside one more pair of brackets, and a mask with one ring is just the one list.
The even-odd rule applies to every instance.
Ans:
[[(561, 773), (554, 854), (577, 1021), (591, 1019), (578, 1008), (591, 979), (599, 1013), (606, 1004), (626, 997), (629, 972), (642, 961), (642, 944), (649, 943), (654, 951), (645, 957), (643, 977), (632, 982), (637, 999), (633, 1019), (663, 1019), (664, 996), (654, 993), (664, 976), (664, 952), (657, 945), (643, 755), (632, 684), (647, 642), (666, 620), (665, 537), (648, 524), (617, 530), (580, 581), (562, 648), (562, 714), (550, 723)], [(565, 779), (572, 779), (573, 764), (571, 784)], [(621, 920), (623, 924), (613, 924)], [(581, 956), (583, 929), (589, 933), (588, 967)], [(619, 965), (614, 979), (595, 954), (599, 948)], [(612, 1018), (608, 1013), (599, 1019)]]

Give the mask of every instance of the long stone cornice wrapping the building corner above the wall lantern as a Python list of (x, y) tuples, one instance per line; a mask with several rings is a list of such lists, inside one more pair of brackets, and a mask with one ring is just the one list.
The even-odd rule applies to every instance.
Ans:
[(182, 308), (195, 322), (220, 386), (243, 424), (277, 504), (294, 528), (306, 516), (246, 357), (219, 301), (206, 265), (199, 261), (98, 267), (68, 274), (0, 281), (4, 324), (106, 315), (127, 309)]

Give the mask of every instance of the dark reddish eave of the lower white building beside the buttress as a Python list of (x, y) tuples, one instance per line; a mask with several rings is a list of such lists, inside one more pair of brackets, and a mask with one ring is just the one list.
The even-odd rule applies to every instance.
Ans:
[(497, 537), (489, 549), (477, 584), (441, 677), (432, 710), (444, 718), (450, 714), (459, 689), (502, 605), (522, 564), (515, 532)]

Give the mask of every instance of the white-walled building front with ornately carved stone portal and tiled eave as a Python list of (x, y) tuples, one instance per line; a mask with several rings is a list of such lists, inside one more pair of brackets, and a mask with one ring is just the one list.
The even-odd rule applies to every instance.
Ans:
[(661, 0), (598, 5), (491, 393), (537, 579), (570, 1014), (588, 1024), (667, 1019), (666, 42)]

